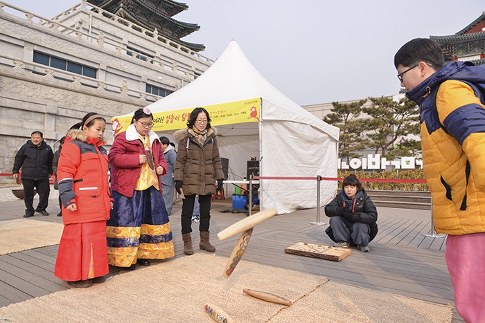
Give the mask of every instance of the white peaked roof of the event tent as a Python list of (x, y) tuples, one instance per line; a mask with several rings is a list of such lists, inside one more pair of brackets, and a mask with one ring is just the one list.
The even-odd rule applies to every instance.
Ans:
[(276, 89), (254, 68), (236, 41), (200, 77), (166, 98), (150, 104), (152, 112), (204, 107), (212, 104), (263, 98), (312, 120), (338, 140), (339, 129), (312, 115)]

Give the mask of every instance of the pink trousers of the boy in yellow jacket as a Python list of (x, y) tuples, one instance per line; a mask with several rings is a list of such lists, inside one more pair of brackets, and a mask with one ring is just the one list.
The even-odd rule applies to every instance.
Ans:
[(485, 233), (448, 235), (446, 264), (459, 315), (467, 323), (485, 322)]

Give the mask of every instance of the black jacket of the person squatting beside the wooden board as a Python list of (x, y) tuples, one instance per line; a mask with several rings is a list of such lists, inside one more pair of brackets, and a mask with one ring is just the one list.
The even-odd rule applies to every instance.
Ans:
[[(342, 196), (337, 194), (335, 196), (335, 199), (333, 199), (330, 203), (328, 203), (325, 206), (325, 214), (328, 217), (332, 216), (343, 216), (344, 219), (346, 219), (349, 222), (362, 222), (362, 223), (367, 223), (369, 224), (369, 227), (371, 227), (371, 234), (370, 234), (370, 240), (374, 239), (376, 237), (376, 234), (378, 232), (378, 226), (377, 226), (377, 209), (376, 205), (372, 202), (371, 198), (367, 195), (365, 190), (362, 190), (362, 196), (358, 198), (358, 200), (355, 202), (355, 207), (353, 212), (348, 210), (344, 214), (344, 201), (342, 200)], [(328, 227), (325, 230), (326, 234), (328, 234), (328, 237), (335, 241), (333, 237), (333, 232), (332, 228)]]

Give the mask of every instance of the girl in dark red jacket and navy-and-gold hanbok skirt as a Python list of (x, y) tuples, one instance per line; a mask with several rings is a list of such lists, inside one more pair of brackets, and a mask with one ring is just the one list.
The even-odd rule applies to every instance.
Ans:
[[(160, 176), (168, 166), (148, 108), (134, 112), (109, 150), (114, 207), (107, 222), (109, 264), (135, 268), (175, 256)], [(173, 194), (173, 192), (168, 192)]]

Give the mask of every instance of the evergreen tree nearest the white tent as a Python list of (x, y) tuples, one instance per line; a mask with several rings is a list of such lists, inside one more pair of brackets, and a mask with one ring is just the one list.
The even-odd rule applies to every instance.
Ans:
[(353, 157), (359, 157), (354, 151), (360, 151), (365, 148), (366, 140), (362, 138), (364, 131), (364, 120), (356, 120), (362, 113), (362, 106), (367, 100), (359, 100), (352, 103), (332, 102), (332, 113), (325, 116), (324, 121), (339, 127), (339, 158), (347, 158), (347, 161)]

